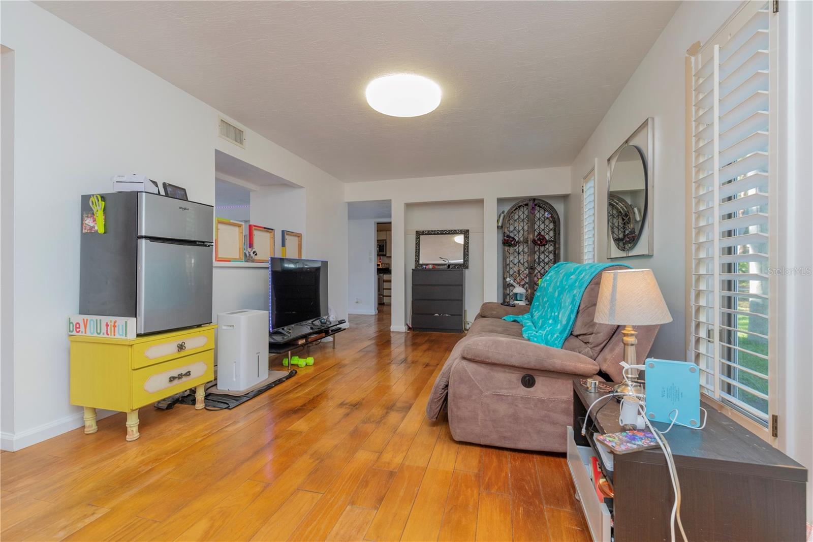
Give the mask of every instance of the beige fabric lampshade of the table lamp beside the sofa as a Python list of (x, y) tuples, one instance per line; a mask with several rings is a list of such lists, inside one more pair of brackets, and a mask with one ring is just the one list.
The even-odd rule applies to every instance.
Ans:
[(651, 326), (672, 322), (672, 314), (651, 269), (625, 269), (602, 273), (595, 321), (618, 326)]

